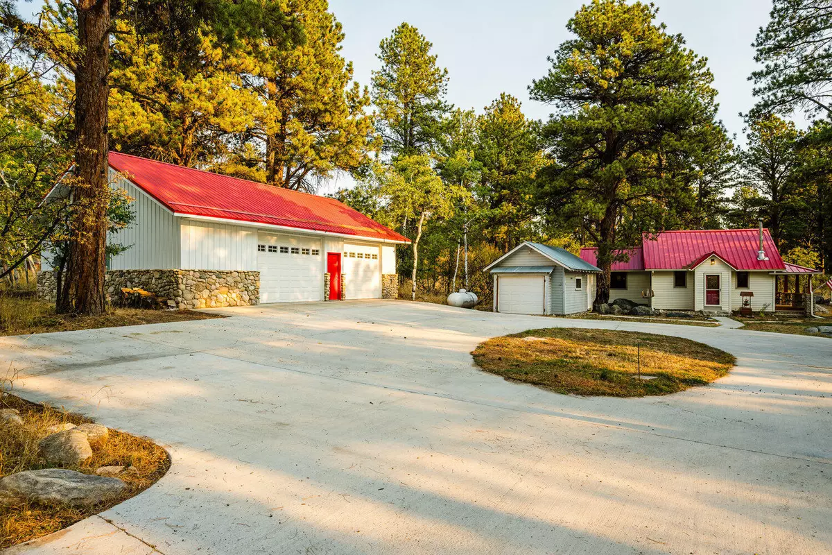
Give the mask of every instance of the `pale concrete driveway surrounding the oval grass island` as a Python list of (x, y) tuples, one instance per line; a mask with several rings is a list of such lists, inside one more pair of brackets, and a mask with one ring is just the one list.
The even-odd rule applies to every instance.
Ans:
[[(832, 553), (832, 340), (397, 301), (0, 339), (18, 393), (173, 466), (9, 553)], [(473, 366), (536, 327), (674, 334), (739, 358), (709, 387), (580, 398)]]

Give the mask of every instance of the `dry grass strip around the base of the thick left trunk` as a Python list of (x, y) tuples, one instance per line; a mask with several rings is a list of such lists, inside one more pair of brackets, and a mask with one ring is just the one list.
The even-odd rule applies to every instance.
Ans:
[(93, 330), (123, 325), (162, 324), (210, 318), (223, 318), (223, 316), (195, 310), (122, 308), (111, 308), (106, 315), (101, 316), (58, 315), (55, 313), (55, 305), (45, 300), (17, 295), (0, 295), (0, 336)]

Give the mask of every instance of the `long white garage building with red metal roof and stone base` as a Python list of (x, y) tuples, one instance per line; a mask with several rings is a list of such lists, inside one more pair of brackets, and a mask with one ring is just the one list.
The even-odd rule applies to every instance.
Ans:
[[(135, 220), (108, 238), (130, 247), (108, 270), (147, 290), (161, 278), (142, 270), (184, 272), (176, 277), (184, 291), (174, 294), (181, 308), (379, 299), (398, 290), (394, 247), (409, 239), (335, 199), (118, 152), (109, 164), (111, 186), (134, 199)], [(50, 195), (59, 193), (60, 184)], [(255, 295), (228, 286), (240, 273), (259, 278)]]

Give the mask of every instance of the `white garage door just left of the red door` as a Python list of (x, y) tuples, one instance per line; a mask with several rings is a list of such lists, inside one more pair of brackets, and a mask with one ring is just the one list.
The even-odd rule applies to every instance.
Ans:
[(324, 259), (321, 253), (317, 239), (260, 233), (257, 237), (260, 302), (323, 300)]

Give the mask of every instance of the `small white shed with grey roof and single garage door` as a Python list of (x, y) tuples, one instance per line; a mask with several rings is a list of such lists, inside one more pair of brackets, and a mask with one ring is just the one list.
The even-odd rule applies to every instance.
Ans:
[(570, 315), (592, 310), (601, 272), (568, 250), (524, 241), (485, 271), (493, 275), (494, 312)]

